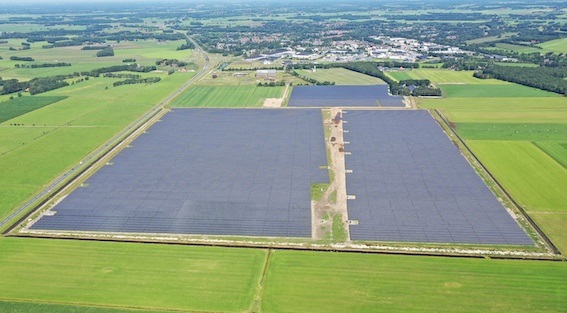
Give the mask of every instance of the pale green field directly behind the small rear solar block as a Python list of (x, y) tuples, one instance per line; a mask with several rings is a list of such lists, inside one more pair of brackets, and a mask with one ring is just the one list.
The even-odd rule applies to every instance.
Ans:
[(318, 69), (316, 72), (309, 70), (297, 70), (297, 72), (320, 82), (329, 81), (336, 85), (383, 85), (385, 82), (380, 78), (357, 73), (344, 68)]

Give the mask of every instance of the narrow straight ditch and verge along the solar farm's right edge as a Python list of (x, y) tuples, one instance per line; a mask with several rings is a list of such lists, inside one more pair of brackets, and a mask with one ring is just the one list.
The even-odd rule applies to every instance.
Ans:
[(514, 198), (508, 193), (508, 191), (504, 188), (504, 186), (502, 186), (500, 184), (500, 182), (496, 179), (496, 177), (494, 177), (494, 175), (488, 170), (488, 168), (486, 168), (486, 166), (484, 166), (484, 164), (478, 159), (476, 154), (474, 154), (474, 152), (470, 149), (470, 147), (466, 144), (466, 142), (461, 138), (461, 136), (457, 132), (455, 132), (455, 130), (451, 127), (451, 124), (445, 118), (445, 116), (438, 109), (434, 109), (434, 112), (441, 119), (441, 121), (444, 123), (446, 128), (450, 129), (451, 133), (453, 135), (455, 135), (455, 137), (459, 140), (459, 142), (463, 145), (463, 147), (467, 150), (467, 152), (475, 159), (476, 162), (478, 162), (479, 166), (484, 170), (484, 172), (486, 172), (488, 174), (488, 176), (494, 182), (494, 184), (498, 187), (498, 189), (500, 191), (502, 191), (502, 193), (508, 198), (508, 200), (510, 200), (510, 202), (518, 209), (518, 211), (521, 213), (521, 215), (528, 222), (528, 225), (535, 231), (535, 233), (540, 237), (540, 239), (543, 240), (543, 242), (545, 243), (547, 248), (550, 251), (552, 251), (553, 254), (561, 255), (561, 252), (557, 249), (557, 247), (555, 247), (553, 242), (551, 242), (551, 240), (547, 237), (547, 235), (543, 232), (543, 230), (541, 230), (541, 228), (533, 221), (533, 219), (528, 215), (528, 213), (524, 210), (524, 208), (522, 206), (520, 206), (520, 204), (518, 204), (518, 202), (516, 202), (516, 200), (514, 200)]

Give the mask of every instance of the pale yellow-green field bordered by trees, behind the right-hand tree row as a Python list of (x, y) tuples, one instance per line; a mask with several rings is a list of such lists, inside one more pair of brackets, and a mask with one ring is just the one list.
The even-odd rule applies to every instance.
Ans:
[(500, 85), (506, 82), (496, 79), (478, 79), (473, 71), (453, 71), (449, 69), (413, 69), (405, 71), (390, 71), (389, 76), (396, 80), (403, 79), (429, 79), (434, 84), (467, 84), (467, 85)]

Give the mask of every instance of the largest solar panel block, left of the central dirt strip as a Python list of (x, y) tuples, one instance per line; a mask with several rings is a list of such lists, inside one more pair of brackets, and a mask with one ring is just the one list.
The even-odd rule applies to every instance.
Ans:
[(320, 110), (178, 109), (32, 229), (311, 236)]

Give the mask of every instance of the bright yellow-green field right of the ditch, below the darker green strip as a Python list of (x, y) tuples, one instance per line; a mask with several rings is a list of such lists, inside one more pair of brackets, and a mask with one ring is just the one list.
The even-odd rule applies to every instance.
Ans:
[(468, 144), (528, 212), (567, 212), (567, 169), (534, 144), (481, 140)]

